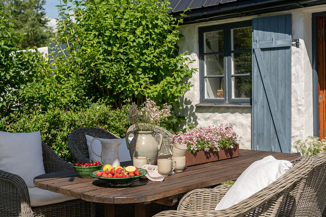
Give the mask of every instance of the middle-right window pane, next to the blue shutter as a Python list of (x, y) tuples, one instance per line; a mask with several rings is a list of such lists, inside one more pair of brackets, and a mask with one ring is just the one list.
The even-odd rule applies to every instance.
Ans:
[(232, 53), (232, 74), (245, 74), (251, 73), (252, 70), (252, 60), (251, 51)]

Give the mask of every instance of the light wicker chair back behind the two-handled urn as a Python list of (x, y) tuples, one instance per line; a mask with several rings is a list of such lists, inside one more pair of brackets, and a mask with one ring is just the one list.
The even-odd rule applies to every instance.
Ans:
[[(128, 129), (127, 132), (131, 131), (131, 130), (136, 130), (136, 125), (131, 125)], [(158, 151), (158, 156), (162, 156), (162, 155), (170, 155), (170, 151), (169, 151), (169, 146), (170, 146), (170, 142), (172, 140), (172, 136), (173, 134), (170, 133), (168, 130), (161, 128), (159, 126), (155, 126), (154, 131), (160, 132), (162, 133), (163, 136), (163, 142), (162, 142), (162, 146), (161, 149)], [(133, 137), (134, 134), (130, 133), (129, 137)], [(155, 139), (157, 141), (157, 143), (159, 143), (160, 138), (158, 135), (155, 135)]]

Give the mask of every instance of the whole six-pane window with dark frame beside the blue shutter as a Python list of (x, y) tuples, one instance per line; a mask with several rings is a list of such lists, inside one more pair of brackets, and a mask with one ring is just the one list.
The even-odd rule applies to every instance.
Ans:
[(251, 20), (199, 28), (201, 102), (251, 102), (251, 34)]

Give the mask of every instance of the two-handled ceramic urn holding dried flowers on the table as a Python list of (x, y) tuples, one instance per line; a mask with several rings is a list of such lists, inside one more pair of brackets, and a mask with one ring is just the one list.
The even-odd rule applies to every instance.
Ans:
[[(129, 143), (128, 135), (130, 133), (134, 134), (134, 138)], [(160, 142), (157, 143), (154, 135), (158, 134), (160, 136)], [(158, 151), (161, 149), (163, 142), (163, 136), (160, 132), (154, 131), (129, 131), (126, 135), (126, 144), (129, 149), (130, 157), (145, 156), (151, 159), (151, 164), (154, 165), (157, 159)]]

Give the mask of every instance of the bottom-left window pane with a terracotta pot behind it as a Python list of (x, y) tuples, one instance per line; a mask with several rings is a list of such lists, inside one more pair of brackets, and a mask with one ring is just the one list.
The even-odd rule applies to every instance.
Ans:
[(205, 78), (205, 98), (224, 98), (224, 77)]

